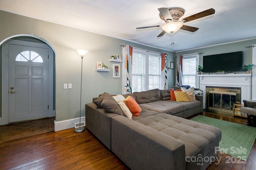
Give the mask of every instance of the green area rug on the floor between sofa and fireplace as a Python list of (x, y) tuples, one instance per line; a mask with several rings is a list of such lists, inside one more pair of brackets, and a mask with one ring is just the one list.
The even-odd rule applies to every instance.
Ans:
[(256, 138), (256, 128), (202, 115), (190, 120), (219, 128), (222, 132), (220, 152), (247, 160)]

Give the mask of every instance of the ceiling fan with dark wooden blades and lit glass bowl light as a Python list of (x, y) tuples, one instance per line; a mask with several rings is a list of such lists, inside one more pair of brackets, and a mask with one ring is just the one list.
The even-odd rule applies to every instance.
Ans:
[(188, 16), (186, 18), (180, 19), (184, 15), (185, 10), (183, 8), (180, 8), (180, 7), (158, 8), (158, 10), (160, 12), (160, 18), (165, 22), (164, 25), (137, 27), (136, 29), (154, 28), (154, 27), (162, 26), (163, 31), (157, 37), (163, 36), (166, 32), (174, 33), (180, 29), (190, 31), (190, 32), (195, 32), (199, 28), (186, 26), (186, 25), (183, 25), (183, 23), (196, 20), (198, 18), (202, 18), (208, 15), (212, 15), (215, 13), (215, 10), (213, 8), (210, 8), (203, 12), (199, 12), (192, 16)]

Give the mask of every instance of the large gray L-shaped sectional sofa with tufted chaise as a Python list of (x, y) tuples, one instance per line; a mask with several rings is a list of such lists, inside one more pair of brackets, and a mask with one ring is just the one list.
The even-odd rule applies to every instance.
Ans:
[(176, 102), (168, 93), (154, 89), (128, 94), (142, 109), (132, 119), (104, 93), (86, 104), (86, 129), (132, 170), (206, 169), (218, 155), (221, 131), (184, 119), (202, 112), (202, 96)]

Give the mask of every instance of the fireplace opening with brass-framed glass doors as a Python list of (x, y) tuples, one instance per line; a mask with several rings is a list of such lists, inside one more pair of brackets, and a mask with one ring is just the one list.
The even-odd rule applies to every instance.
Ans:
[(241, 104), (240, 87), (206, 86), (206, 109), (232, 113), (234, 103)]

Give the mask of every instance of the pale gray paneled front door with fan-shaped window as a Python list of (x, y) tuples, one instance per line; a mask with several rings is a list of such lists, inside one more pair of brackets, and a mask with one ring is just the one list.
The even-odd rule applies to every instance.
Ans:
[(9, 123), (48, 117), (48, 49), (9, 44)]

